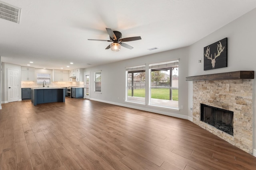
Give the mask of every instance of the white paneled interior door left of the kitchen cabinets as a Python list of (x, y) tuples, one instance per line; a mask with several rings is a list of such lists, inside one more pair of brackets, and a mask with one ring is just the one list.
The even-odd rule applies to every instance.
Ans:
[(7, 70), (8, 102), (18, 101), (18, 70)]

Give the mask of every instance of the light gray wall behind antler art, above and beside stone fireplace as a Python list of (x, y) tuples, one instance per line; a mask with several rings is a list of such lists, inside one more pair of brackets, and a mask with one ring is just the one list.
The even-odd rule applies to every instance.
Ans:
[[(188, 76), (230, 72), (239, 70), (255, 70), (256, 68), (256, 9), (238, 18), (224, 27), (194, 43), (189, 47)], [(204, 47), (228, 37), (228, 67), (204, 71)], [(192, 82), (188, 83), (188, 106), (192, 106)], [(253, 113), (254, 113), (254, 149), (256, 149), (256, 79), (254, 79)], [(192, 112), (188, 112), (192, 116)], [(256, 154), (256, 153), (255, 153)], [(255, 155), (256, 156), (256, 155)]]

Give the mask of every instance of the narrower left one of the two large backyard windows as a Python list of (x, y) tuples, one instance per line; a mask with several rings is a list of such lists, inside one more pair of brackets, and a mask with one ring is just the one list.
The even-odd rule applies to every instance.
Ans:
[(126, 101), (145, 104), (145, 66), (126, 68)]

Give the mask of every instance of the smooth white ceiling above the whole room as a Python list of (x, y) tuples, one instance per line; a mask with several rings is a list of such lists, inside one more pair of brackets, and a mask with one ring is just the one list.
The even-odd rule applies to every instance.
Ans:
[[(256, 8), (256, 0), (1, 1), (22, 9), (19, 24), (0, 19), (2, 62), (67, 70), (186, 47)], [(142, 39), (119, 52), (87, 40), (109, 40), (106, 27)]]

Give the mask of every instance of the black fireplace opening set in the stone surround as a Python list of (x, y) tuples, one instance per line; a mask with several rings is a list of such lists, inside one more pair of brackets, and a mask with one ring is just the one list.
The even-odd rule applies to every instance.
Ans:
[(233, 111), (200, 104), (201, 121), (233, 136)]

